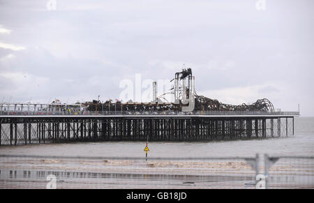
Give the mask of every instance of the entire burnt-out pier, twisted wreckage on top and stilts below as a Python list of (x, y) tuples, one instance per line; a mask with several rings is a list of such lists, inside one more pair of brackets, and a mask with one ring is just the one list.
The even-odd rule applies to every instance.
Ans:
[(267, 99), (230, 105), (198, 96), (190, 68), (175, 73), (170, 94), (148, 103), (93, 100), (73, 105), (0, 103), (0, 145), (78, 141), (197, 141), (294, 135), (299, 112), (276, 111)]

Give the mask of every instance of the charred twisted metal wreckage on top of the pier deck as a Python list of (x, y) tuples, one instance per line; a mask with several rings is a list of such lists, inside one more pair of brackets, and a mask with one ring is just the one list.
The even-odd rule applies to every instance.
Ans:
[[(169, 93), (174, 95), (174, 103), (165, 103), (163, 93), (156, 96), (156, 82), (153, 82), (153, 100), (150, 103), (121, 103), (121, 101), (107, 100), (101, 103), (98, 100), (84, 103), (88, 111), (124, 111), (124, 112), (195, 112), (195, 111), (257, 111), (257, 112), (274, 112), (274, 105), (267, 99), (258, 99), (251, 105), (245, 103), (241, 105), (230, 105), (221, 103), (216, 99), (199, 96), (195, 92), (195, 77), (192, 75), (191, 68), (183, 69), (179, 73), (175, 73), (174, 86)], [(188, 108), (192, 107), (192, 109)]]

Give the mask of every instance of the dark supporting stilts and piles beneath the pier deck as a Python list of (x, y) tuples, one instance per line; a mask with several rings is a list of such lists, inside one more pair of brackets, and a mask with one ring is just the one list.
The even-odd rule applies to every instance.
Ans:
[(294, 115), (0, 116), (0, 132), (1, 145), (246, 140), (294, 135)]

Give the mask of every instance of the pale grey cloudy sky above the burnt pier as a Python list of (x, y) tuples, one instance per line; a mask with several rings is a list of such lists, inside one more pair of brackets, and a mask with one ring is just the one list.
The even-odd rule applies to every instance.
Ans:
[(0, 0), (0, 101), (114, 100), (185, 63), (199, 95), (314, 116), (313, 0), (47, 1)]

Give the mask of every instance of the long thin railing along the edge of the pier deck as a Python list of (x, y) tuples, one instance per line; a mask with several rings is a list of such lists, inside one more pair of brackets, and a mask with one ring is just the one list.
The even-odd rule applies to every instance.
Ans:
[(213, 116), (245, 116), (245, 115), (257, 115), (257, 116), (299, 116), (299, 112), (258, 112), (258, 111), (194, 111), (194, 112), (129, 112), (129, 111), (110, 111), (110, 112), (89, 112), (89, 111), (77, 111), (77, 112), (48, 112), (48, 111), (36, 111), (36, 112), (19, 112), (19, 111), (1, 111), (2, 116), (105, 116), (105, 115), (213, 115)]

